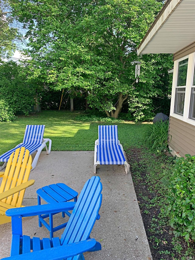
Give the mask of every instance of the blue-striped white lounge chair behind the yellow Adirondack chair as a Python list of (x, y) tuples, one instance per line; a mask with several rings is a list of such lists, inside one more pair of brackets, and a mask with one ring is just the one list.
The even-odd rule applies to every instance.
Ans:
[[(30, 155), (37, 151), (32, 162), (32, 169), (34, 169), (37, 165), (39, 155), (43, 148), (45, 147), (47, 154), (51, 152), (51, 139), (43, 138), (44, 129), (44, 125), (27, 125), (24, 133), (23, 142), (0, 156), (0, 162), (4, 162), (3, 166), (0, 167), (0, 170), (6, 166), (12, 152), (21, 147), (25, 147), (26, 149), (28, 149), (30, 151)], [(49, 142), (48, 148), (46, 145), (47, 142)]]

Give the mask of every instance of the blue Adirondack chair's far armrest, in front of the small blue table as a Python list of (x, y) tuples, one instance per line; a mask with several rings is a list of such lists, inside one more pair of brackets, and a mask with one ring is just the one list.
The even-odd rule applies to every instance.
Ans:
[(56, 202), (56, 203), (49, 203), (49, 204), (42, 204), (36, 206), (29, 206), (29, 207), (22, 207), (22, 208), (11, 208), (8, 209), (5, 214), (9, 217), (14, 216), (22, 216), (22, 217), (29, 217), (29, 216), (36, 216), (36, 215), (43, 215), (49, 213), (58, 213), (68, 210), (73, 210), (76, 202)]

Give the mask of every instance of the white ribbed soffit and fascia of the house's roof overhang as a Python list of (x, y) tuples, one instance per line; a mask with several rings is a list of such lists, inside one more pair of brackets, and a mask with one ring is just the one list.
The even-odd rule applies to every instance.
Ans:
[(175, 53), (195, 41), (195, 0), (168, 0), (137, 54)]

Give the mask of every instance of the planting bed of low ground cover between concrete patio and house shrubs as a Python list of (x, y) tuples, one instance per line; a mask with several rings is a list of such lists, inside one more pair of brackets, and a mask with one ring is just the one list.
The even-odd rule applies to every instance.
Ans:
[(172, 169), (174, 158), (144, 146), (132, 147), (126, 154), (153, 260), (193, 260), (193, 241), (186, 242), (185, 236), (175, 237), (171, 215), (167, 215), (167, 170)]

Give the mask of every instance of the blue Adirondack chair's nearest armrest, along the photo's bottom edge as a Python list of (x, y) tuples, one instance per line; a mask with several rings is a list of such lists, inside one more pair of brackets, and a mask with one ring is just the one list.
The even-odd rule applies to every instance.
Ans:
[(26, 259), (41, 259), (41, 260), (53, 260), (64, 259), (75, 255), (79, 255), (94, 248), (96, 240), (94, 238), (71, 243), (68, 245), (62, 245), (55, 248), (48, 248), (40, 251), (34, 251), (23, 255), (14, 255), (2, 259), (6, 260), (26, 260)]

